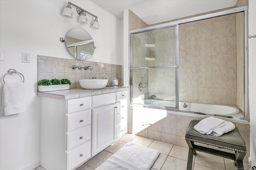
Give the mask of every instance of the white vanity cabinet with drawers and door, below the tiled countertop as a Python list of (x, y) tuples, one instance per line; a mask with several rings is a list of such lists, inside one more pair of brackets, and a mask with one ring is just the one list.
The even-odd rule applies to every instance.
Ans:
[(127, 91), (41, 98), (41, 166), (74, 170), (127, 132)]

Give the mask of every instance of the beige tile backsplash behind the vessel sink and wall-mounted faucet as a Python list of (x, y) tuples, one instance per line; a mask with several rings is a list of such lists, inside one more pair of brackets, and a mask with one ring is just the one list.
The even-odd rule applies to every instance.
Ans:
[[(92, 66), (92, 71), (90, 69), (79, 70), (76, 68), (73, 70), (72, 65), (76, 66)], [(121, 82), (121, 71), (122, 66), (116, 64), (106, 64), (101, 66), (98, 62), (82, 61), (76, 59), (63, 59), (48, 56), (37, 56), (37, 81), (52, 78), (68, 78), (71, 81), (70, 88), (80, 88), (80, 79), (90, 79), (92, 77), (97, 77), (98, 79), (105, 78), (107, 76), (109, 83), (111, 85), (112, 79), (117, 78)]]

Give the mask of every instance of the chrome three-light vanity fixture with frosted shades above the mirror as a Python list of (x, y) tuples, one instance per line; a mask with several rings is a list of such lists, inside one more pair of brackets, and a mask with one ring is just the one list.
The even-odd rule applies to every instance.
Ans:
[(87, 14), (90, 14), (91, 16), (95, 17), (94, 21), (92, 21), (91, 27), (94, 29), (100, 28), (100, 25), (98, 22), (98, 17), (96, 15), (84, 10), (83, 8), (80, 8), (79, 6), (77, 6), (71, 2), (68, 2), (68, 5), (66, 6), (66, 8), (63, 9), (62, 16), (66, 17), (66, 18), (73, 18), (73, 11), (71, 9), (71, 5), (76, 7), (76, 12), (78, 13), (78, 15), (80, 15), (78, 18), (79, 23), (87, 24), (87, 20), (88, 20), (88, 18), (86, 16), (86, 13), (87, 13)]

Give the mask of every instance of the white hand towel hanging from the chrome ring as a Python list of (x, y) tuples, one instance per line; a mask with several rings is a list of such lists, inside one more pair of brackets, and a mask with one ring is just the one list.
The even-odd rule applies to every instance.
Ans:
[(26, 94), (23, 83), (5, 83), (3, 88), (2, 115), (26, 112)]

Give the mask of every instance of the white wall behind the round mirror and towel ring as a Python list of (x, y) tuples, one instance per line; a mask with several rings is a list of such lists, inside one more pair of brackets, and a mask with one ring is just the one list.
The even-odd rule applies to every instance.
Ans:
[[(36, 96), (37, 55), (73, 59), (64, 43), (59, 41), (75, 27), (85, 29), (97, 47), (89, 61), (121, 64), (122, 21), (88, 0), (73, 0), (72, 3), (98, 16), (100, 29), (91, 29), (90, 24), (64, 18), (62, 9), (68, 1), (62, 0), (1, 0), (0, 1), (0, 49), (5, 50), (5, 60), (0, 61), (0, 103), (2, 103), (2, 76), (9, 68), (22, 72), (26, 86), (26, 113), (0, 115), (0, 169), (31, 170), (40, 159), (40, 98)], [(87, 15), (88, 21), (92, 21)], [(21, 62), (22, 52), (30, 53), (30, 63)], [(6, 76), (6, 82), (20, 78)], [(31, 164), (31, 166), (29, 166)]]

